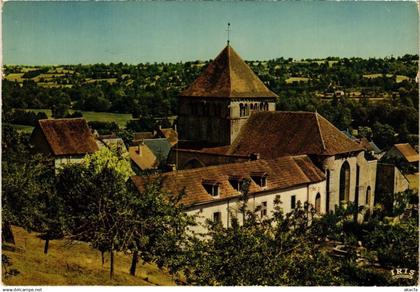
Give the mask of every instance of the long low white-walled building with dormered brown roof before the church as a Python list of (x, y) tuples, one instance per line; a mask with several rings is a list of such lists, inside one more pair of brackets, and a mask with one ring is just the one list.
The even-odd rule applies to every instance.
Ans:
[(277, 196), (284, 213), (300, 203), (308, 202), (318, 214), (325, 209), (325, 175), (306, 155), (283, 156), (270, 160), (254, 160), (163, 173), (161, 176), (134, 176), (132, 180), (141, 192), (145, 185), (161, 178), (163, 190), (172, 195), (181, 192), (181, 204), (190, 215), (198, 215), (193, 231), (204, 231), (206, 220), (231, 226), (232, 216), (242, 223), (238, 211), (241, 184), (249, 180), (248, 210), (259, 207), (257, 215), (271, 216)]

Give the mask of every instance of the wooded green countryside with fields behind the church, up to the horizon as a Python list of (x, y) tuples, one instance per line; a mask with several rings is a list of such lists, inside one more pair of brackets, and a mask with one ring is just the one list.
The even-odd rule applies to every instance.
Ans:
[[(52, 109), (57, 118), (70, 109), (131, 113), (135, 119), (176, 115), (177, 96), (208, 63), (5, 66), (3, 121), (14, 123), (17, 108)], [(279, 95), (277, 110), (318, 111), (380, 147), (417, 141), (418, 55), (247, 63)], [(18, 77), (8, 80), (11, 74)]]

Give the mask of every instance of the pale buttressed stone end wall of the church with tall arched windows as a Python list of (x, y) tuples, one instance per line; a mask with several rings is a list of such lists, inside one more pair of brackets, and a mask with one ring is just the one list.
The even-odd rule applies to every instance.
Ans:
[[(368, 205), (369, 208), (373, 208), (377, 160), (368, 161), (364, 152), (359, 152), (350, 156), (331, 156), (324, 160), (324, 169), (330, 171), (329, 210), (335, 210), (340, 204), (340, 171), (345, 161), (350, 166), (349, 201), (358, 201), (359, 206)], [(359, 166), (359, 185), (356, 190), (357, 166)], [(357, 193), (358, 198), (356, 198)]]

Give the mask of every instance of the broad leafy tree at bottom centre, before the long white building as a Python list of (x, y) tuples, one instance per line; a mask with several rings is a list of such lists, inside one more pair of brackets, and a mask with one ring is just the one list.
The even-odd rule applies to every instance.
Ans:
[[(309, 206), (284, 215), (276, 200), (270, 219), (247, 212), (243, 225), (210, 224), (206, 239), (193, 239), (184, 274), (194, 285), (339, 285), (339, 264), (319, 246)], [(309, 217), (308, 217), (309, 216)], [(316, 273), (314, 271), (317, 271)]]

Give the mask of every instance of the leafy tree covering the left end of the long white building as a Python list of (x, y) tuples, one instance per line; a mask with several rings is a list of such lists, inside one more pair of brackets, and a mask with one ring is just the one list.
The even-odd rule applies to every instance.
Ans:
[[(137, 193), (137, 192), (136, 192)], [(137, 193), (130, 274), (135, 275), (139, 257), (145, 262), (155, 262), (176, 274), (185, 264), (189, 226), (194, 218), (187, 215), (180, 204), (183, 193), (169, 194), (162, 191), (162, 180), (150, 180), (145, 189)]]

